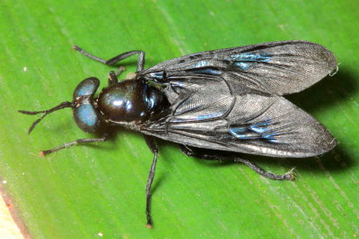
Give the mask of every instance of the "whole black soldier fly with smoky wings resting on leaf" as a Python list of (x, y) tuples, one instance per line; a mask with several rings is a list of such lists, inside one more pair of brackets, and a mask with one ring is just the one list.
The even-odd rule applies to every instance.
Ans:
[[(100, 138), (72, 141), (43, 150), (41, 155), (79, 143), (106, 141), (109, 126), (143, 133), (153, 152), (145, 193), (148, 227), (153, 225), (151, 185), (158, 156), (153, 137), (179, 143), (188, 156), (231, 159), (276, 180), (291, 180), (293, 174), (275, 175), (249, 160), (223, 156), (223, 151), (304, 158), (323, 154), (337, 144), (323, 125), (283, 97), (307, 89), (337, 68), (335, 56), (316, 43), (278, 41), (212, 50), (148, 69), (144, 69), (140, 50), (108, 61), (80, 47), (74, 50), (108, 65), (138, 55), (135, 79), (119, 82), (118, 75), (124, 70), (120, 67), (118, 73), (109, 73), (109, 86), (97, 97), (100, 81), (90, 77), (78, 84), (72, 101), (48, 110), (19, 112), (43, 114), (29, 133), (46, 115), (66, 107), (73, 109), (74, 121), (84, 132), (103, 132)], [(215, 149), (215, 154), (198, 153), (198, 148)]]

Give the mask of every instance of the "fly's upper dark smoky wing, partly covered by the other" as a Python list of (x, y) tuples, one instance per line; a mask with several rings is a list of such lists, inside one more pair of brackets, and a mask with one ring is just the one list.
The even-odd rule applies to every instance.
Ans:
[(325, 47), (308, 41), (278, 41), (185, 55), (140, 74), (164, 84), (185, 75), (221, 76), (237, 95), (285, 95), (310, 87), (336, 68), (335, 56)]

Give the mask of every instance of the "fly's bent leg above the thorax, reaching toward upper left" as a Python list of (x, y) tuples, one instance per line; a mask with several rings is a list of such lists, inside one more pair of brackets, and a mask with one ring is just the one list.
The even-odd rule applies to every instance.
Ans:
[(101, 59), (100, 57), (97, 57), (95, 55), (92, 55), (92, 54), (86, 52), (81, 47), (74, 46), (73, 49), (80, 52), (83, 55), (86, 55), (87, 57), (92, 58), (92, 60), (100, 62), (101, 64), (108, 64), (108, 65), (117, 64), (118, 62), (126, 59), (127, 57), (129, 57), (131, 55), (138, 54), (137, 72), (141, 72), (142, 70), (144, 70), (144, 51), (136, 50), (136, 51), (125, 52), (125, 53), (122, 53), (120, 55), (116, 55), (115, 57), (112, 57), (112, 58), (110, 58), (109, 60), (106, 61), (106, 60)]

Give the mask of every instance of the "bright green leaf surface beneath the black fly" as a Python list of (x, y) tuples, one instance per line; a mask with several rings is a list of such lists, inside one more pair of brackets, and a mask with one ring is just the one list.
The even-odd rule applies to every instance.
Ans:
[[(16, 217), (34, 238), (350, 238), (358, 235), (359, 3), (333, 1), (10, 1), (0, 2), (0, 176)], [(89, 137), (71, 110), (37, 118), (71, 100), (89, 76), (107, 84), (103, 58), (146, 52), (146, 67), (198, 51), (305, 39), (337, 55), (339, 72), (299, 94), (340, 144), (318, 158), (243, 156), (270, 172), (296, 166), (296, 180), (263, 178), (240, 164), (187, 158), (159, 141), (154, 227), (144, 226), (152, 154), (142, 135), (118, 136), (40, 158), (38, 151)], [(136, 57), (127, 60), (136, 70)], [(126, 74), (126, 73), (125, 73)]]

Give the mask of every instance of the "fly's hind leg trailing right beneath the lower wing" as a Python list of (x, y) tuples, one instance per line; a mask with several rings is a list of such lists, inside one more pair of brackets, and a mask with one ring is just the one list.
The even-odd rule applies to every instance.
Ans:
[(253, 169), (254, 172), (256, 172), (258, 175), (265, 176), (270, 179), (275, 180), (293, 180), (294, 175), (292, 170), (286, 173), (285, 175), (276, 175), (273, 173), (269, 173), (263, 168), (253, 164), (247, 159), (238, 158), (236, 156), (223, 156), (223, 155), (215, 155), (215, 154), (206, 154), (206, 153), (200, 153), (196, 152), (195, 149), (188, 148), (186, 145), (180, 145), (180, 150), (189, 157), (195, 157), (195, 158), (204, 158), (208, 160), (231, 160), (233, 162), (240, 162), (242, 164), (245, 164), (246, 166), (249, 166), (251, 169)]

